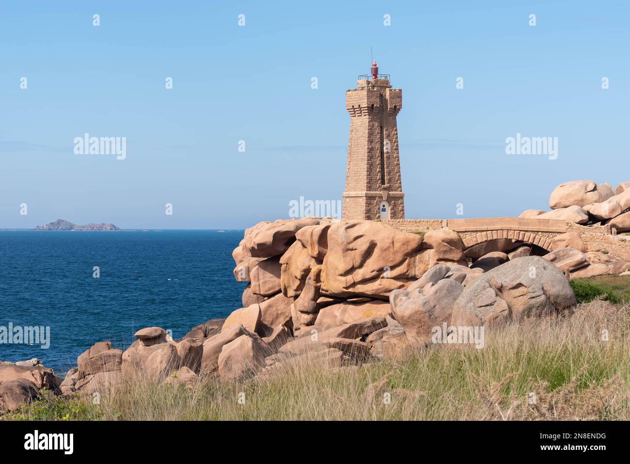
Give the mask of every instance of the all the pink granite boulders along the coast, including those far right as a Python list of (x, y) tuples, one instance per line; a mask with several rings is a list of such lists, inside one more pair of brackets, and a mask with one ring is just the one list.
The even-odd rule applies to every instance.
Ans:
[[(565, 183), (551, 195), (551, 212), (521, 216), (630, 231), (630, 183), (609, 187)], [(570, 279), (630, 272), (623, 257), (588, 248), (575, 232), (554, 236), (549, 251), (513, 239), (466, 248), (448, 228), (420, 234), (380, 221), (263, 221), (232, 253), (235, 279), (248, 282), (241, 308), (180, 340), (148, 327), (124, 352), (97, 342), (65, 378), (36, 359), (2, 362), (0, 409), (16, 409), (44, 388), (91, 395), (138, 377), (190, 386), (200, 376), (238, 383), (314, 362), (360, 366), (456, 341), (462, 328), (570, 317), (577, 304)]]

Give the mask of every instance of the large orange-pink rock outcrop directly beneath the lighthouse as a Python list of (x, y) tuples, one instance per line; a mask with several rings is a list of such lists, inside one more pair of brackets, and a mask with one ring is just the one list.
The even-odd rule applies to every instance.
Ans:
[[(256, 224), (246, 231), (232, 257), (236, 279), (250, 283), (243, 293), (244, 308), (227, 318), (223, 330), (243, 323), (261, 337), (277, 325), (299, 335), (316, 326), (386, 315), (389, 293), (409, 286), (437, 264), (461, 267), (453, 277), (458, 282), (474, 275), (454, 231), (440, 229), (421, 236), (375, 221)], [(276, 263), (279, 293), (274, 293), (278, 289)], [(270, 271), (260, 272), (266, 265)], [(376, 306), (381, 308), (375, 311)]]

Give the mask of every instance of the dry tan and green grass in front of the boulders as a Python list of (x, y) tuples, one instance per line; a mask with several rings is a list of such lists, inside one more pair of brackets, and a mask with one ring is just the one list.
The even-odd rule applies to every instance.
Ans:
[(240, 385), (127, 384), (98, 405), (45, 400), (5, 418), (630, 420), (629, 385), (630, 306), (595, 301), (570, 317), (488, 328), (483, 349), (431, 345), (398, 361), (294, 366)]

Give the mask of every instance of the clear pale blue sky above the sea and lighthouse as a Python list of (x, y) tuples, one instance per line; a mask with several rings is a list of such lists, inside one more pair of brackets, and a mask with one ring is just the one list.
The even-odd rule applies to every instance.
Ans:
[[(244, 228), (287, 217), (300, 196), (341, 199), (344, 91), (369, 72), (370, 46), (403, 89), (407, 217), (454, 217), (458, 203), (464, 217), (517, 216), (548, 209), (567, 180), (616, 187), (630, 180), (629, 10), (622, 1), (3, 2), (0, 227), (62, 218)], [(85, 132), (127, 137), (127, 159), (74, 154)], [(517, 132), (558, 137), (558, 159), (508, 156), (505, 138)]]

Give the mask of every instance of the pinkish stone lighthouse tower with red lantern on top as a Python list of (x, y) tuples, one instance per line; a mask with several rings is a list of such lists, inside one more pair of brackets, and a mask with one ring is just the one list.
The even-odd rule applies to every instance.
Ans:
[[(371, 77), (371, 80), (370, 80)], [(404, 219), (396, 115), (403, 91), (392, 89), (389, 75), (358, 76), (357, 88), (346, 91), (350, 141), (343, 219)]]

